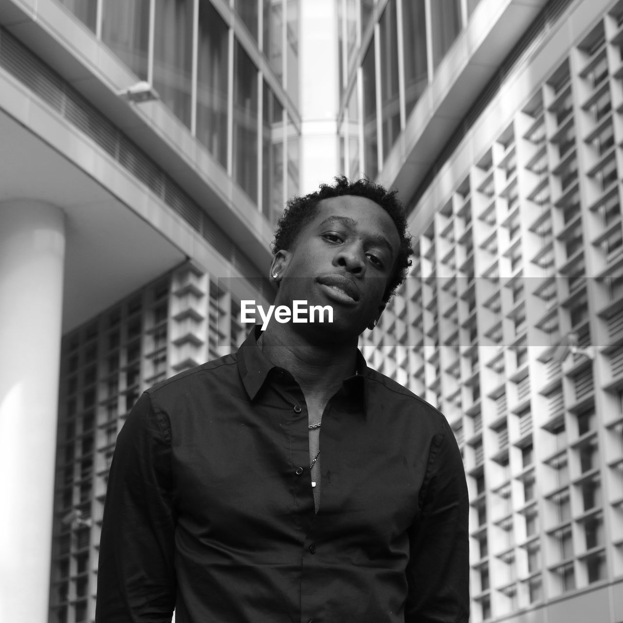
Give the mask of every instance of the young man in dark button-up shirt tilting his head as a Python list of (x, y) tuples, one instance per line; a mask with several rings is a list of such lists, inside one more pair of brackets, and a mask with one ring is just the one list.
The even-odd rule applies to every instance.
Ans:
[(288, 202), (269, 323), (146, 391), (110, 469), (98, 623), (465, 623), (468, 498), (444, 416), (368, 368), (409, 266), (394, 193), (359, 180)]

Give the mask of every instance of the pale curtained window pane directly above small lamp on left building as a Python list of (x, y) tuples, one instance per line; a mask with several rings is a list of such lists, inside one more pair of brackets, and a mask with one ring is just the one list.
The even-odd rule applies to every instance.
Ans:
[(102, 40), (142, 80), (147, 79), (149, 0), (103, 0)]

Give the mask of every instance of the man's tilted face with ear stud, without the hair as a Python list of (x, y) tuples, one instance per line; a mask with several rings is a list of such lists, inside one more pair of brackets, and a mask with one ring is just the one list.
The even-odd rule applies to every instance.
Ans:
[(394, 269), (400, 237), (389, 214), (371, 199), (323, 199), (293, 247), (275, 254), (278, 305), (293, 300), (331, 305), (333, 325), (297, 325), (343, 338), (358, 336), (378, 320)]

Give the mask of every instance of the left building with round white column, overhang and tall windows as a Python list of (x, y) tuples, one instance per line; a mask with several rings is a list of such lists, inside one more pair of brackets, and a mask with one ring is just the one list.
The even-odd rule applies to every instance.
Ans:
[(93, 620), (126, 414), (237, 347), (241, 299), (273, 297), (272, 229), (301, 183), (302, 10), (0, 2), (2, 621)]

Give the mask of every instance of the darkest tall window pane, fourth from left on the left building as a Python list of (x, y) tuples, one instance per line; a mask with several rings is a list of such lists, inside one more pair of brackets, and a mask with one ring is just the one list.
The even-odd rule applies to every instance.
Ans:
[(227, 167), (227, 57), (229, 29), (210, 2), (199, 3), (196, 135)]

